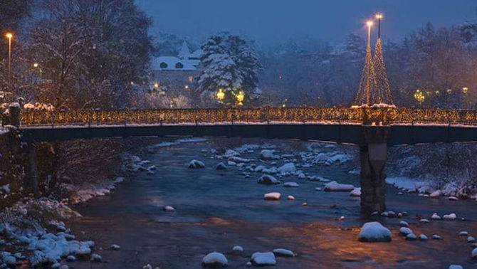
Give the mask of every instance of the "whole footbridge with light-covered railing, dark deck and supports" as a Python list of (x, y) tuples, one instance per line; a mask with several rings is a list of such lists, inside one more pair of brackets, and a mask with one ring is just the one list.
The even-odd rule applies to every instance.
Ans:
[(42, 112), (10, 107), (6, 123), (28, 144), (26, 181), (37, 181), (37, 142), (107, 137), (258, 137), (360, 147), (361, 211), (385, 210), (387, 147), (477, 141), (477, 111), (396, 108), (262, 107)]

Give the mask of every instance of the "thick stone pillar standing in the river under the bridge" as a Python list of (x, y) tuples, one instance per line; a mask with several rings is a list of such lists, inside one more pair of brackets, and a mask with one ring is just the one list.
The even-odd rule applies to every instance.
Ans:
[(361, 215), (369, 217), (375, 211), (386, 210), (387, 161), (386, 127), (364, 127), (365, 144), (360, 147)]

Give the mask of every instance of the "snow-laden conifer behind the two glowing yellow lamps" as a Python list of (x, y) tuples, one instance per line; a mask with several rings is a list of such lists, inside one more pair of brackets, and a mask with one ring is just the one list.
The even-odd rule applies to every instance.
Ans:
[(262, 66), (255, 48), (244, 38), (219, 33), (211, 36), (201, 48), (204, 51), (202, 73), (197, 80), (201, 93), (211, 98), (221, 88), (227, 103), (234, 102), (239, 90), (243, 90), (246, 98), (256, 93)]

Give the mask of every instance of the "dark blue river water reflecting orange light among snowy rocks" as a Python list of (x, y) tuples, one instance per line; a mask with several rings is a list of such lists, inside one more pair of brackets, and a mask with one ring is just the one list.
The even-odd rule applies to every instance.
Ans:
[[(280, 143), (283, 143), (281, 141)], [(246, 268), (251, 253), (288, 248), (295, 258), (278, 258), (276, 268), (447, 268), (457, 263), (464, 268), (477, 266), (471, 261), (471, 246), (459, 231), (477, 236), (476, 201), (426, 199), (416, 194), (398, 195), (387, 188), (387, 207), (407, 211), (404, 218), (385, 218), (382, 223), (393, 233), (391, 243), (357, 241), (360, 199), (347, 192), (315, 191), (323, 183), (285, 177), (297, 181), (298, 188), (257, 184), (261, 174), (246, 178), (238, 167), (214, 169), (217, 159), (206, 157), (202, 149), (212, 142), (195, 142), (162, 147), (143, 158), (156, 165), (157, 172), (127, 177), (110, 196), (96, 198), (78, 206), (83, 218), (68, 223), (80, 239), (97, 244), (95, 253), (103, 263), (78, 261), (70, 268), (201, 268), (207, 253), (219, 251), (229, 259), (228, 268)], [(259, 150), (243, 154), (259, 164)], [(205, 169), (187, 169), (191, 159), (201, 159)], [(271, 162), (271, 161), (270, 161)], [(270, 167), (270, 162), (265, 162)], [(281, 165), (283, 161), (278, 160)], [(297, 167), (308, 174), (323, 176), (343, 184), (359, 185), (359, 176), (348, 174), (351, 162), (329, 167)], [(278, 191), (280, 201), (264, 201), (263, 194)], [(288, 201), (286, 196), (295, 196)], [(302, 206), (303, 202), (308, 206)], [(173, 213), (163, 211), (174, 206)], [(418, 216), (456, 213), (466, 221), (419, 223)], [(340, 221), (340, 216), (345, 216)], [(397, 233), (399, 221), (408, 221), (419, 236), (441, 241), (405, 241)], [(109, 250), (111, 244), (119, 251)], [(233, 255), (233, 246), (243, 246), (243, 255)], [(102, 248), (101, 250), (99, 248)]]

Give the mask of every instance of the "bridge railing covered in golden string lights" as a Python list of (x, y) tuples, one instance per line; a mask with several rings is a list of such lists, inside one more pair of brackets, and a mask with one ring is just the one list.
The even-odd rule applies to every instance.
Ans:
[(22, 126), (157, 125), (220, 122), (327, 122), (477, 125), (477, 111), (416, 108), (261, 107), (43, 112), (23, 110)]

